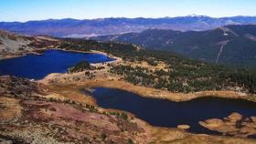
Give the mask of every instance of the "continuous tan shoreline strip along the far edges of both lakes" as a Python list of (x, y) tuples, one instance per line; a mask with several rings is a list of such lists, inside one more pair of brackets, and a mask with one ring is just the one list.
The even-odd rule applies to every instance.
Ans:
[[(59, 50), (59, 51), (67, 51), (67, 52), (75, 52), (75, 53), (83, 53), (83, 54), (101, 54), (106, 57), (113, 58), (115, 60), (104, 62), (105, 64), (108, 63), (115, 63), (115, 64), (123, 64), (123, 59), (120, 57), (113, 57), (107, 53), (101, 52), (101, 51), (79, 51), (79, 50), (66, 50), (66, 49), (60, 49), (60, 48), (41, 48), (41, 49), (35, 49), (32, 52), (29, 52), (22, 56), (13, 56), (13, 57), (1, 57), (0, 59), (8, 59), (8, 58), (16, 58), (16, 57), (25, 57), (27, 55), (43, 55), (44, 51), (46, 50)], [(101, 63), (95, 63), (91, 64), (93, 66), (105, 66)], [(108, 67), (107, 67), (108, 68)], [(239, 93), (231, 90), (208, 90), (208, 91), (199, 91), (194, 93), (174, 93), (167, 90), (162, 89), (156, 89), (154, 87), (143, 87), (143, 86), (135, 86), (129, 82), (124, 81), (119, 76), (112, 76), (112, 74), (105, 71), (100, 71), (98, 74), (98, 71), (95, 70), (93, 72), (96, 72), (96, 77), (94, 79), (87, 79), (87, 82), (83, 82), (82, 80), (77, 85), (86, 85), (86, 87), (109, 87), (109, 88), (118, 88), (122, 90), (126, 90), (129, 92), (132, 92), (134, 94), (140, 95), (144, 98), (161, 98), (161, 99), (167, 99), (171, 101), (181, 102), (181, 101), (188, 101), (195, 98), (203, 98), (203, 97), (218, 97), (218, 98), (241, 98), (250, 100), (253, 102), (256, 102), (255, 98), (252, 98), (253, 96), (250, 96), (249, 94)], [(49, 74), (47, 77), (45, 77), (45, 80), (49, 80), (52, 75), (59, 75), (59, 78), (61, 76), (72, 78), (74, 74)], [(67, 76), (69, 75), (69, 76)], [(76, 74), (75, 74), (76, 75)], [(79, 74), (80, 75), (80, 74)], [(103, 75), (103, 77), (102, 77)], [(53, 77), (54, 78), (54, 77)], [(56, 77), (55, 77), (56, 78)], [(44, 81), (44, 78), (39, 80)], [(66, 83), (72, 83), (72, 81), (67, 81)], [(73, 81), (74, 82), (74, 81)], [(76, 82), (75, 82), (76, 83)]]

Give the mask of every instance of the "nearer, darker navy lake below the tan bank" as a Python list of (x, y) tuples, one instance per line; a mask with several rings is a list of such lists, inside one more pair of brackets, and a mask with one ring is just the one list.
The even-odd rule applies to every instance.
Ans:
[(243, 99), (197, 98), (187, 102), (143, 98), (136, 94), (112, 88), (96, 87), (91, 96), (102, 108), (114, 108), (133, 113), (153, 126), (176, 128), (187, 124), (190, 132), (219, 134), (201, 127), (200, 120), (228, 117), (238, 112), (245, 117), (256, 116), (256, 105)]

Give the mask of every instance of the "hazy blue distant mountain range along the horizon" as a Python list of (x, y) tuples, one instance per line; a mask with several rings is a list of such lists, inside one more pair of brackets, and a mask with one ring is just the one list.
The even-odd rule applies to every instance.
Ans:
[(202, 31), (227, 25), (256, 24), (256, 16), (214, 18), (205, 15), (188, 15), (163, 18), (99, 18), (99, 19), (48, 19), (40, 21), (0, 22), (0, 29), (18, 34), (59, 37), (104, 36), (141, 32), (149, 28), (179, 31)]

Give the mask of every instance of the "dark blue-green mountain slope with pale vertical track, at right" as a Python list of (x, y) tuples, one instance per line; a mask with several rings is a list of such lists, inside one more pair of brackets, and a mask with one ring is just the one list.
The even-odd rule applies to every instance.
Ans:
[(133, 43), (153, 49), (174, 51), (208, 62), (256, 67), (255, 25), (223, 26), (201, 32), (149, 29), (142, 33), (99, 36), (94, 39)]

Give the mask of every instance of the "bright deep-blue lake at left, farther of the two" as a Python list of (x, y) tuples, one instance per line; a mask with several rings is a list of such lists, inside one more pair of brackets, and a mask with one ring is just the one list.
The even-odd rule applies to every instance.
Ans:
[(0, 75), (40, 79), (50, 73), (64, 73), (80, 61), (108, 62), (115, 59), (101, 54), (46, 50), (43, 55), (27, 55), (0, 60)]

